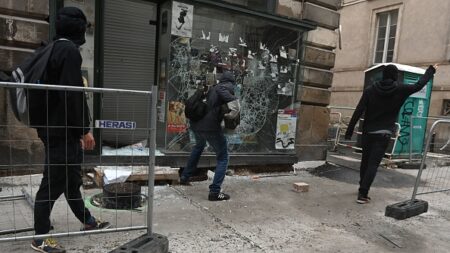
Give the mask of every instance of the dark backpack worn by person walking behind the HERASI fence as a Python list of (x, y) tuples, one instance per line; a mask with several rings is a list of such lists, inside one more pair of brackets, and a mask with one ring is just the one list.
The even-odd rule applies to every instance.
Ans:
[[(59, 39), (57, 41), (67, 40)], [(45, 83), (46, 69), (56, 41), (40, 48), (11, 74), (11, 82)], [(43, 125), (47, 112), (47, 91), (33, 88), (10, 88), (11, 109), (17, 120), (29, 126)]]

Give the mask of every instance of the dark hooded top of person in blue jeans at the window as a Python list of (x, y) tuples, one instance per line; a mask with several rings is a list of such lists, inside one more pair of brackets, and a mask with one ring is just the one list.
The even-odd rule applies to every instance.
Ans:
[(208, 113), (203, 119), (190, 122), (194, 131), (222, 131), (220, 123), (224, 114), (221, 110), (223, 104), (236, 100), (234, 96), (235, 79), (231, 72), (224, 72), (219, 79), (219, 84), (212, 86), (206, 95)]

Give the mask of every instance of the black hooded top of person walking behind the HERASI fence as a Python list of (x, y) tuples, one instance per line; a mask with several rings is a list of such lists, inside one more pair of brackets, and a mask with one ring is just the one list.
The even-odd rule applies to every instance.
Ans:
[[(86, 41), (86, 26), (86, 16), (80, 9), (64, 7), (58, 11), (46, 83), (83, 87), (79, 46)], [(41, 138), (54, 136), (78, 141), (89, 132), (89, 109), (83, 92), (49, 91), (47, 108), (48, 124), (38, 129)]]

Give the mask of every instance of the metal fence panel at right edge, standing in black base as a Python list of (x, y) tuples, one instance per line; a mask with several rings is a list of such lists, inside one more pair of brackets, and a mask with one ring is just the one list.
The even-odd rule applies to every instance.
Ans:
[[(435, 119), (436, 121), (432, 124), (428, 131), (428, 135), (426, 136), (426, 142), (411, 201), (414, 201), (417, 195), (450, 191), (450, 158), (448, 155), (446, 157), (437, 157), (437, 160), (431, 161), (431, 166), (427, 166), (427, 170), (424, 172), (425, 164), (427, 161), (430, 162), (430, 158), (432, 158), (429, 150), (430, 145), (433, 143), (433, 133), (435, 133), (439, 125), (450, 125), (450, 119)], [(447, 162), (444, 160), (447, 160)]]

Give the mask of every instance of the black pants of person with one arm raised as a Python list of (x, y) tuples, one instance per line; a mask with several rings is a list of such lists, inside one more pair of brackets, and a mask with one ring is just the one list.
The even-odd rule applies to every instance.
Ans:
[(388, 134), (363, 134), (359, 193), (367, 195), (377, 174), (391, 136)]

